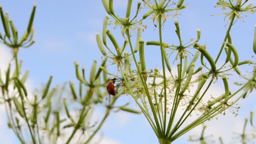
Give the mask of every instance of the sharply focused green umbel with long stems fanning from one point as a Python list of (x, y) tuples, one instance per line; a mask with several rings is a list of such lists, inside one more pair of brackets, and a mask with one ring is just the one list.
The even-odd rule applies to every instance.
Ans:
[[(96, 40), (104, 59), (110, 61), (109, 65), (117, 65), (117, 73), (110, 72), (105, 67), (101, 69), (113, 77), (121, 80), (123, 94), (130, 95), (151, 125), (160, 144), (171, 144), (191, 129), (211, 120), (219, 114), (225, 114), (229, 109), (235, 115), (240, 107), (237, 101), (250, 93), (255, 85), (255, 72), (251, 77), (245, 77), (239, 70), (243, 64), (255, 64), (254, 61), (239, 61), (239, 53), (232, 44), (231, 30), (237, 19), (242, 19), (241, 14), (254, 13), (256, 6), (249, 4), (248, 0), (218, 0), (216, 7), (222, 7), (227, 11), (224, 14), (228, 17), (227, 31), (223, 43), (220, 46), (216, 58), (208, 53), (206, 45), (200, 44), (201, 31), (197, 29), (196, 40), (183, 43), (181, 27), (176, 19), (174, 21), (175, 33), (179, 39), (178, 45), (171, 44), (173, 41), (163, 42), (165, 22), (168, 17), (176, 17), (179, 11), (186, 8), (184, 0), (177, 3), (172, 0), (142, 0), (137, 4), (135, 16), (131, 16), (132, 0), (127, 0), (125, 17), (115, 13), (113, 0), (101, 0), (108, 16), (104, 19), (102, 37), (96, 35)], [(247, 5), (247, 6), (245, 6)], [(149, 9), (141, 14), (141, 9)], [(138, 14), (139, 13), (139, 14)], [(139, 15), (142, 15), (139, 18)], [(112, 18), (113, 21), (109, 21)], [(145, 19), (152, 19), (155, 29), (158, 29), (159, 39), (144, 42), (141, 31), (146, 31), (147, 26), (143, 24)], [(115, 36), (108, 29), (108, 25), (115, 25), (121, 29), (123, 45), (117, 42)], [(132, 32), (137, 31), (136, 41), (132, 41)], [(155, 34), (154, 34), (155, 35)], [(120, 37), (119, 35), (116, 37)], [(107, 43), (107, 37), (112, 45)], [(102, 40), (101, 40), (102, 39)], [(154, 45), (160, 51), (163, 72), (158, 68), (148, 68), (144, 55), (146, 45)], [(113, 47), (113, 48), (112, 48)], [(107, 48), (107, 51), (106, 51)], [(197, 52), (195, 52), (197, 51)], [(253, 41), (253, 51), (256, 52), (256, 35)], [(197, 62), (198, 57), (200, 63)], [(219, 64), (219, 58), (226, 57), (224, 64)], [(189, 58), (192, 59), (189, 61)], [(155, 56), (154, 59), (157, 59)], [(171, 64), (176, 64), (176, 71), (173, 72)], [(135, 67), (135, 69), (133, 69)], [(230, 71), (235, 71), (230, 75)], [(195, 79), (193, 77), (196, 77)], [(229, 91), (229, 78), (242, 77), (245, 83), (239, 83), (240, 88), (236, 91)], [(207, 97), (206, 93), (214, 83), (223, 82), (225, 91), (223, 95), (216, 98)], [(196, 90), (190, 91), (192, 85), (197, 85)], [(209, 96), (208, 96), (209, 97)], [(197, 117), (191, 117), (192, 114)], [(192, 119), (192, 120), (191, 120)]]

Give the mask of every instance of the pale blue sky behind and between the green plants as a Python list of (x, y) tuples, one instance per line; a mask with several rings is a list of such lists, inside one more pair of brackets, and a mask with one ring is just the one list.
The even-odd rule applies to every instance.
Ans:
[[(136, 8), (137, 1), (133, 0), (133, 9)], [(256, 5), (255, 0), (251, 0), (251, 2)], [(21, 49), (19, 55), (19, 58), (24, 61), (23, 70), (29, 69), (30, 71), (29, 80), (32, 87), (39, 87), (41, 83), (48, 80), (50, 75), (53, 75), (53, 85), (67, 80), (75, 81), (74, 61), (78, 61), (81, 66), (84, 66), (88, 74), (93, 60), (101, 60), (101, 53), (95, 39), (96, 33), (101, 34), (104, 16), (106, 16), (101, 0), (0, 0), (4, 11), (8, 11), (17, 29), (21, 32), (27, 27), (34, 3), (37, 4), (34, 23), (36, 43), (28, 49)], [(125, 5), (123, 5), (124, 3)], [(181, 16), (177, 17), (184, 42), (196, 38), (196, 29), (200, 28), (200, 43), (207, 44), (209, 53), (215, 58), (227, 27), (224, 27), (226, 21), (224, 21), (223, 15), (211, 15), (221, 13), (221, 8), (213, 8), (216, 0), (185, 0), (184, 3), (189, 3), (189, 5), (180, 11)], [(123, 16), (126, 0), (114, 0), (114, 6), (116, 13)], [(246, 15), (247, 17), (243, 16), (245, 22), (238, 20), (231, 31), (233, 44), (236, 46), (241, 60), (250, 59), (254, 54), (252, 41), (256, 15), (250, 13), (246, 13)], [(154, 31), (152, 20), (146, 20), (144, 24), (149, 26), (147, 32), (142, 34), (145, 35), (144, 40), (158, 40), (158, 31), (157, 29)], [(0, 27), (0, 29), (3, 32), (3, 28)], [(120, 30), (113, 30), (111, 27), (109, 29), (120, 42), (123, 42)], [(177, 43), (178, 39), (174, 30), (173, 19), (170, 18), (165, 24), (163, 40)], [(160, 67), (160, 51), (149, 47), (145, 54), (147, 67)], [(123, 101), (127, 100), (133, 101), (131, 98), (125, 97), (120, 99), (119, 103), (123, 104)], [(241, 101), (243, 107), (240, 109), (239, 117), (233, 120), (234, 125), (240, 121), (243, 123), (243, 119), (249, 115), (249, 111), (256, 110), (253, 101), (255, 101), (253, 95)], [(233, 118), (233, 116), (230, 117)], [(225, 122), (229, 123), (227, 118), (226, 120), (224, 118), (220, 116), (219, 121), (223, 120), (224, 124)], [(224, 125), (219, 122), (214, 123), (220, 125), (221, 129)], [(236, 129), (237, 127), (234, 125), (234, 129)], [(102, 130), (106, 138), (117, 141), (117, 144), (157, 143), (157, 139), (143, 115), (113, 113)], [(0, 131), (5, 131), (5, 129)], [(11, 131), (6, 131), (5, 134), (8, 133), (13, 137)], [(4, 138), (5, 135), (0, 135), (0, 139), (1, 137)], [(187, 143), (187, 139), (188, 136), (182, 136), (174, 144)]]

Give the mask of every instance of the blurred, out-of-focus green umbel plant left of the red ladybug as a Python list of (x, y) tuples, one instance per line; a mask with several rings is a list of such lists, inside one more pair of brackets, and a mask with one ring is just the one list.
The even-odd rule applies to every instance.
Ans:
[[(75, 62), (75, 73), (79, 81), (79, 88), (69, 81), (69, 90), (65, 87), (51, 88), (53, 76), (50, 76), (43, 89), (35, 93), (29, 91), (24, 85), (29, 72), (21, 75), (21, 61), (18, 60), (20, 48), (28, 48), (35, 43), (33, 40), (33, 21), (36, 5), (32, 9), (28, 27), (19, 38), (18, 30), (13, 21), (9, 19), (8, 13), (3, 13), (0, 6), (0, 16), (3, 24), (4, 35), (0, 33), (0, 42), (12, 49), (15, 69), (12, 71), (11, 63), (5, 71), (5, 80), (0, 75), (1, 95), (0, 103), (5, 105), (8, 118), (8, 127), (19, 139), (21, 144), (46, 144), (46, 143), (85, 143), (88, 144), (99, 132), (111, 112), (120, 110), (140, 113), (128, 108), (128, 103), (116, 106), (115, 102), (123, 91), (110, 97), (105, 90), (109, 81), (102, 69), (96, 69), (96, 61), (93, 61), (89, 81), (85, 78), (85, 68), (79, 69)], [(106, 59), (102, 61), (101, 67), (106, 67)], [(13, 72), (13, 74), (12, 74)], [(0, 72), (1, 74), (1, 72)], [(78, 90), (78, 92), (77, 92)], [(61, 101), (61, 102), (60, 102)], [(93, 120), (93, 111), (103, 106), (106, 108), (101, 120)], [(27, 136), (29, 131), (29, 136)]]

